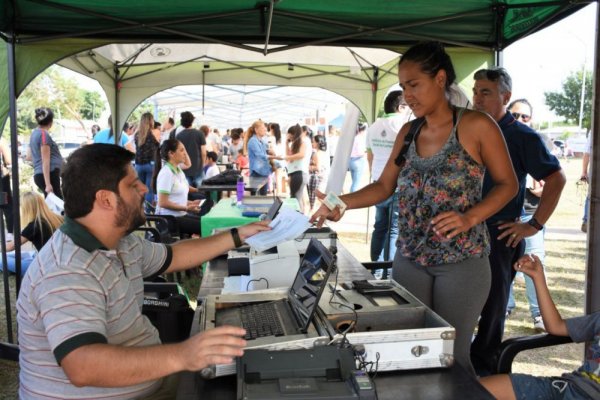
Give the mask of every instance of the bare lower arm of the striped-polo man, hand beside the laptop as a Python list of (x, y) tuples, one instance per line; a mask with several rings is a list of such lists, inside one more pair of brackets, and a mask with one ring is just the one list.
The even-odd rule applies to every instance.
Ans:
[(226, 364), (243, 354), (245, 331), (219, 327), (184, 342), (146, 347), (90, 344), (67, 354), (61, 367), (75, 386), (122, 387), (160, 379), (179, 371)]

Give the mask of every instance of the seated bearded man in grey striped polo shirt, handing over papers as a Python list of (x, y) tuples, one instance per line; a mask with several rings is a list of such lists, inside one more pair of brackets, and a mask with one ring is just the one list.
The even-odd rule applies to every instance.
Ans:
[(17, 300), (21, 399), (174, 398), (175, 373), (243, 354), (244, 330), (231, 326), (161, 345), (141, 313), (143, 278), (196, 267), (269, 228), (254, 223), (172, 246), (132, 235), (145, 221), (148, 191), (133, 157), (92, 144), (63, 169), (65, 223)]

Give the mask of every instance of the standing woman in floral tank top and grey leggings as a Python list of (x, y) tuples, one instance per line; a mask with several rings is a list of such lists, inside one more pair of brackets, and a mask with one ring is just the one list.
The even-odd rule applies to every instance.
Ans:
[[(379, 179), (340, 198), (348, 209), (368, 207), (398, 186), (392, 276), (455, 327), (455, 360), (475, 374), (471, 339), (491, 282), (484, 222), (516, 195), (515, 172), (498, 125), (450, 103), (456, 74), (441, 43), (411, 47), (400, 59), (398, 77), (417, 119), (400, 130)], [(486, 169), (494, 188), (482, 199)], [(312, 220), (322, 224), (341, 216), (339, 208), (321, 205)]]

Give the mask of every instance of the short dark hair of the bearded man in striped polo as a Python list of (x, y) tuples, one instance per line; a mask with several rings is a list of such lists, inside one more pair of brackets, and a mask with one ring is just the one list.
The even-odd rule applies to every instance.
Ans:
[(119, 194), (119, 182), (127, 175), (134, 157), (135, 154), (120, 146), (103, 143), (83, 146), (71, 153), (61, 174), (65, 215), (69, 218), (88, 215), (98, 190)]

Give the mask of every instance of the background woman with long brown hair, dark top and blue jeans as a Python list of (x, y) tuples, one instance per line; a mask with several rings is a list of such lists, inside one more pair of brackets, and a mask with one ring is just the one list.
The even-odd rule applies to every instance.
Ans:
[[(159, 143), (152, 132), (154, 129), (154, 117), (151, 113), (144, 113), (140, 118), (140, 126), (135, 133), (135, 171), (140, 181), (148, 187), (145, 199), (146, 204), (154, 203), (154, 191), (152, 190), (152, 174), (154, 173), (154, 158), (158, 151)], [(160, 167), (160, 166), (159, 166)], [(148, 207), (146, 207), (148, 209)]]

